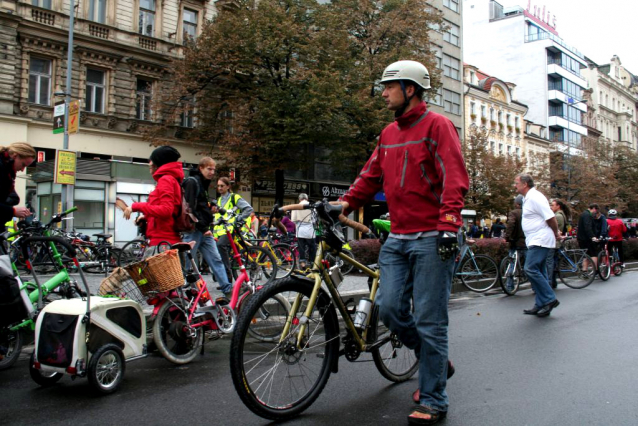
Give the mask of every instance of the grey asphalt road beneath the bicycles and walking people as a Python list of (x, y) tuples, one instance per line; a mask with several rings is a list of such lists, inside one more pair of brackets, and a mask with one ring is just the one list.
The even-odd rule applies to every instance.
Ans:
[[(548, 318), (523, 315), (533, 305), (528, 289), (451, 302), (456, 375), (441, 424), (638, 424), (638, 273), (582, 290), (560, 285), (557, 294), (561, 305)], [(132, 362), (120, 390), (106, 397), (91, 396), (85, 379), (39, 388), (22, 359), (0, 372), (0, 424), (269, 424), (235, 393), (228, 351), (226, 338), (186, 366), (158, 355)], [(339, 366), (315, 404), (289, 424), (406, 424), (416, 378), (393, 385), (371, 362), (342, 358)]]

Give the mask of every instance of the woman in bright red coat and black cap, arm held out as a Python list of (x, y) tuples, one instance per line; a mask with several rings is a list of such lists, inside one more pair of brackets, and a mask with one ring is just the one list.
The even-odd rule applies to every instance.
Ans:
[[(130, 219), (132, 212), (142, 212), (147, 221), (146, 236), (150, 245), (162, 241), (175, 244), (181, 237), (175, 231), (175, 216), (182, 205), (182, 181), (184, 170), (177, 161), (180, 153), (172, 146), (164, 145), (155, 149), (149, 159), (149, 167), (157, 186), (145, 203), (133, 203), (124, 211), (124, 218)], [(139, 220), (139, 219), (138, 219)]]

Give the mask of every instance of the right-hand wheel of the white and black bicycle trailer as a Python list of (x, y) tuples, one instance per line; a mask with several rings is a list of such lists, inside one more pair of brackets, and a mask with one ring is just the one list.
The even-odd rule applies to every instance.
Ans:
[(100, 394), (115, 392), (122, 383), (126, 363), (119, 346), (109, 343), (99, 348), (89, 362), (88, 379)]

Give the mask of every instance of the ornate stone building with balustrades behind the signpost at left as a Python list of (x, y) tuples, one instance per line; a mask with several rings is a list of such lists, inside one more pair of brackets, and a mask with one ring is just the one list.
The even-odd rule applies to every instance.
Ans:
[[(69, 0), (0, 0), (0, 145), (27, 141), (45, 154), (17, 185), (23, 202), (29, 198), (44, 221), (60, 208), (52, 171), (63, 135), (52, 127), (54, 105), (63, 100), (57, 94), (65, 91), (69, 9)], [(71, 93), (81, 114), (69, 149), (78, 152), (74, 224), (80, 230), (115, 232), (117, 241), (135, 236), (116, 213), (115, 197), (136, 201), (152, 189), (143, 164), (152, 147), (140, 130), (161, 118), (151, 101), (167, 64), (214, 13), (215, 3), (202, 0), (75, 3)], [(189, 163), (205, 148), (180, 139), (192, 126), (192, 118), (183, 116), (171, 135)]]

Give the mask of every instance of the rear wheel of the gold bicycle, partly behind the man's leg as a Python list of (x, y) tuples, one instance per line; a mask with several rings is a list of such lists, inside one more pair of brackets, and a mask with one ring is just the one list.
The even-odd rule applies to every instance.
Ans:
[(414, 350), (405, 346), (399, 337), (392, 333), (379, 318), (379, 307), (374, 305), (370, 317), (368, 341), (385, 341), (372, 349), (372, 359), (379, 373), (391, 382), (401, 383), (408, 380), (419, 369), (419, 360)]

